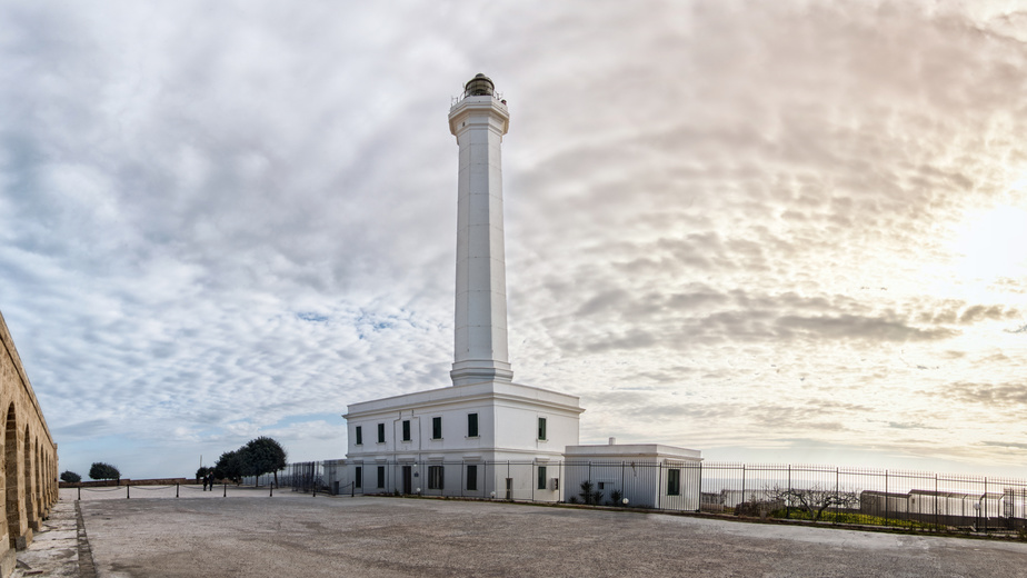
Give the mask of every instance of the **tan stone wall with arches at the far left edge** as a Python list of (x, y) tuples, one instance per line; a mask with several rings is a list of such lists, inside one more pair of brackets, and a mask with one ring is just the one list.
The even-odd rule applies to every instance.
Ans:
[(14, 569), (16, 549), (23, 549), (40, 520), (58, 499), (57, 444), (29, 383), (14, 341), (0, 315), (0, 411), (6, 417), (3, 470), (0, 477), (4, 524), (0, 525), (0, 576)]

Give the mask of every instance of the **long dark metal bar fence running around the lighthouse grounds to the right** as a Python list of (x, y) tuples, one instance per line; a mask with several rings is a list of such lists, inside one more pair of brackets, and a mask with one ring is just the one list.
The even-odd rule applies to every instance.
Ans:
[(578, 502), (925, 530), (1025, 530), (1027, 480), (818, 465), (661, 461), (292, 464), (298, 491)]

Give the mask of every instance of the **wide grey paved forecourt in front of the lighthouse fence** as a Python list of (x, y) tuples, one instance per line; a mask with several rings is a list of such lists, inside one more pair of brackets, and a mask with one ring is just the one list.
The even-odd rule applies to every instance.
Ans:
[(181, 495), (83, 495), (97, 576), (1027, 577), (1021, 542), (511, 504)]

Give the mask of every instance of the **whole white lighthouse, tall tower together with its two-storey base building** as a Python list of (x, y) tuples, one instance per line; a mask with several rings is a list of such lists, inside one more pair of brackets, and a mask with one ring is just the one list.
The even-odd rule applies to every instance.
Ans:
[[(565, 492), (576, 496), (581, 477), (594, 474), (591, 465), (567, 467), (565, 460), (597, 460), (597, 468), (607, 469), (609, 464), (659, 461), (660, 471), (668, 472), (664, 494), (677, 496), (681, 465), (701, 459), (698, 451), (617, 446), (612, 438), (606, 446), (579, 446), (578, 420), (585, 410), (578, 397), (512, 382), (500, 163), (509, 124), (507, 103), (485, 74), (467, 82), (449, 110), (449, 131), (460, 149), (452, 387), (351, 403), (343, 416), (346, 479), (359, 494), (557, 501)], [(600, 489), (622, 480), (622, 466), (617, 468), (595, 470), (601, 474), (596, 478)], [(631, 499), (658, 502), (661, 484), (650, 480), (648, 494)]]

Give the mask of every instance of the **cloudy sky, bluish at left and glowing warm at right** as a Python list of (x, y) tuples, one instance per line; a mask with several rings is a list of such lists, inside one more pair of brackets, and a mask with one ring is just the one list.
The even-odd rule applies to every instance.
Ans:
[(450, 385), (488, 74), (516, 382), (582, 444), (1027, 477), (1027, 3), (0, 4), (0, 311), (61, 470)]

